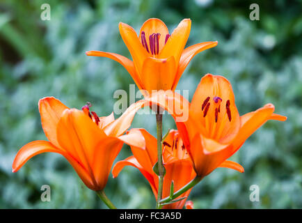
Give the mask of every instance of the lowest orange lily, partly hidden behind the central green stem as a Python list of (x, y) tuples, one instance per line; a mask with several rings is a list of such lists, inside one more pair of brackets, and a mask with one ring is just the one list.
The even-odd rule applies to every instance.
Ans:
[[(123, 167), (127, 165), (136, 167), (149, 181), (156, 199), (159, 177), (154, 173), (152, 168), (157, 162), (157, 139), (143, 129), (132, 129), (129, 131), (129, 134), (135, 134), (137, 136), (137, 132), (141, 133), (140, 139), (136, 138), (141, 141), (141, 146), (131, 146), (133, 155), (117, 162), (113, 167), (112, 174), (113, 177), (116, 178)], [(166, 168), (163, 196), (168, 197), (172, 180), (174, 182), (174, 190), (176, 191), (196, 176), (189, 154), (186, 152), (186, 148), (177, 130), (171, 130), (166, 139), (164, 139), (163, 160), (164, 167)], [(188, 190), (180, 197), (188, 197), (190, 192), (191, 190)], [(181, 201), (168, 204), (163, 208), (182, 208), (185, 201), (186, 199), (182, 199)]]

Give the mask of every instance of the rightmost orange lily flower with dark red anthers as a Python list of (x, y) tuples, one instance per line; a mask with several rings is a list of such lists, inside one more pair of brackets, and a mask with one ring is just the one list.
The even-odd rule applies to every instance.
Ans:
[[(180, 114), (175, 114), (175, 107), (180, 107), (181, 101), (186, 100), (180, 95), (175, 95), (177, 93), (161, 94), (164, 100), (155, 96), (149, 100), (164, 107), (177, 118)], [(228, 167), (243, 172), (241, 165), (227, 159), (268, 120), (287, 119), (285, 116), (274, 114), (275, 107), (272, 104), (239, 116), (230, 82), (225, 77), (211, 74), (202, 77), (191, 104), (186, 101), (184, 106), (189, 109), (189, 118), (177, 122), (177, 128), (193, 161), (196, 174), (201, 177), (207, 176), (217, 167)]]

